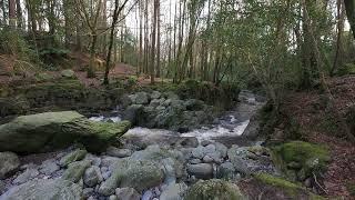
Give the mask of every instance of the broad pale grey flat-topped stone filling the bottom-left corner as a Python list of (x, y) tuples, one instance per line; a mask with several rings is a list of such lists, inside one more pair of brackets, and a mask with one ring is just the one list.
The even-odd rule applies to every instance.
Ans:
[(82, 189), (78, 184), (62, 180), (34, 180), (14, 187), (3, 193), (1, 200), (80, 200)]

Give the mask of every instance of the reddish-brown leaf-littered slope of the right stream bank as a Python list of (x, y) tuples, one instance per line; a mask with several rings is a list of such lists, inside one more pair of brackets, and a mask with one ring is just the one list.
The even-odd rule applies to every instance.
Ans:
[[(355, 104), (355, 77), (329, 79), (328, 87), (336, 109), (345, 117)], [(339, 120), (324, 104), (324, 97), (318, 91), (293, 92), (284, 100), (282, 113), (296, 120), (303, 139), (328, 147), (332, 161), (322, 178), (324, 192), (328, 197), (355, 199), (348, 191), (348, 186), (355, 184), (355, 146), (346, 140)]]

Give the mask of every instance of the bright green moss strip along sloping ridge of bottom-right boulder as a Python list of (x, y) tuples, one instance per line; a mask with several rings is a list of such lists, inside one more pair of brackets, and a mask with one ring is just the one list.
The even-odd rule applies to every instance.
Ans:
[(290, 182), (282, 178), (273, 177), (267, 173), (257, 173), (254, 176), (254, 178), (257, 181), (261, 181), (267, 186), (275, 187), (286, 192), (286, 194), (288, 194), (291, 199), (298, 199), (298, 197), (301, 197), (302, 194), (308, 196), (312, 200), (324, 199), (323, 197), (316, 196), (296, 183)]

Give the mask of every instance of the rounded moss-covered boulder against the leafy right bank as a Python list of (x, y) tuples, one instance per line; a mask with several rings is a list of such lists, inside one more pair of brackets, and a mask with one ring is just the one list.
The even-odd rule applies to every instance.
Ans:
[(304, 181), (326, 169), (331, 160), (328, 149), (321, 144), (292, 141), (273, 148), (273, 160), (291, 180)]

